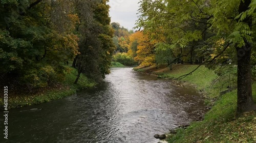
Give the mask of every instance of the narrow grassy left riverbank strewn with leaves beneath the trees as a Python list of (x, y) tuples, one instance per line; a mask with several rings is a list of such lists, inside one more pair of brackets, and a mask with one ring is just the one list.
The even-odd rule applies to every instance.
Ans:
[[(10, 93), (8, 95), (8, 108), (18, 108), (23, 106), (29, 106), (34, 104), (40, 104), (44, 102), (49, 102), (56, 99), (61, 99), (70, 95), (74, 95), (77, 91), (86, 88), (91, 88), (96, 85), (95, 82), (88, 79), (86, 76), (80, 76), (78, 83), (74, 84), (77, 75), (77, 69), (71, 66), (65, 66), (67, 72), (65, 73), (65, 80), (56, 83), (51, 87), (46, 87), (42, 89), (36, 89), (34, 92), (33, 88), (27, 87), (30, 90), (29, 93)], [(3, 106), (3, 98), (0, 98), (1, 106)]]

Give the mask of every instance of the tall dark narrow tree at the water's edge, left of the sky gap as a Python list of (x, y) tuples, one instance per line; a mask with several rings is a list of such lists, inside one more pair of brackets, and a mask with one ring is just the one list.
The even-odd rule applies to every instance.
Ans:
[[(77, 57), (78, 74), (74, 83), (77, 83), (80, 74), (99, 80), (110, 73), (112, 55), (115, 45), (112, 41), (113, 30), (110, 27), (108, 1), (79, 1), (88, 7), (83, 9), (77, 5), (80, 16), (79, 25), (79, 52)], [(90, 15), (88, 15), (88, 12)]]

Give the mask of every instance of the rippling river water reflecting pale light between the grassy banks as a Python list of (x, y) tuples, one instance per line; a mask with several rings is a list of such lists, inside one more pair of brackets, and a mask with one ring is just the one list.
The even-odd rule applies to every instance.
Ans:
[(111, 71), (95, 89), (9, 110), (9, 139), (1, 135), (0, 140), (156, 143), (159, 140), (154, 134), (188, 124), (205, 109), (203, 97), (192, 87), (180, 87), (132, 68)]

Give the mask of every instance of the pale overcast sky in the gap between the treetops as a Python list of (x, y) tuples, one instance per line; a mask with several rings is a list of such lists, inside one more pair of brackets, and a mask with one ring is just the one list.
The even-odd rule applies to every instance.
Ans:
[(111, 22), (118, 22), (124, 28), (133, 30), (137, 20), (139, 0), (110, 0)]

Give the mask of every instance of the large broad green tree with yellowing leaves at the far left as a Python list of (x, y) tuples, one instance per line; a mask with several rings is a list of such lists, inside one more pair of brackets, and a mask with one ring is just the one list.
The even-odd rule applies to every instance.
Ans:
[(69, 26), (54, 22), (52, 13), (59, 8), (55, 4), (61, 2), (1, 1), (1, 74), (34, 87), (62, 79), (65, 69), (60, 63), (78, 53), (78, 38), (71, 32), (74, 20), (67, 7), (63, 7), (66, 13), (58, 14)]

